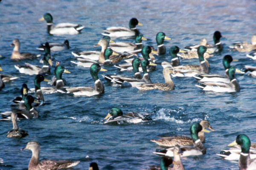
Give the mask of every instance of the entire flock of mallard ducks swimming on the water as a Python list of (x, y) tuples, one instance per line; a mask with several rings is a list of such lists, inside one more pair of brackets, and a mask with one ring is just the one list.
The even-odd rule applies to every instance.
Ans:
[[(47, 33), (51, 36), (78, 36), (79, 34), (83, 34), (82, 30), (85, 28), (81, 24), (73, 23), (59, 23), (54, 25), (53, 17), (49, 13), (44, 14), (40, 20), (47, 22)], [(224, 75), (209, 74), (210, 71), (212, 73), (214, 72), (214, 70), (210, 70), (212, 63), (209, 57), (213, 57), (216, 54), (222, 56), (223, 54), (223, 44), (221, 43), (221, 37), (223, 36), (221, 32), (215, 31), (213, 33), (213, 45), (209, 45), (207, 40), (202, 38), (200, 44), (188, 44), (188, 46), (184, 47), (183, 49), (186, 50), (186, 52), (184, 52), (178, 46), (167, 47), (164, 42), (171, 40), (171, 38), (166, 36), (168, 33), (164, 32), (158, 32), (155, 36), (155, 45), (157, 46), (157, 50), (155, 50), (153, 46), (147, 43), (143, 32), (140, 32), (140, 29), (137, 28), (137, 26), (143, 26), (137, 18), (131, 18), (128, 22), (128, 26), (129, 28), (113, 26), (104, 29), (104, 33), (102, 33), (104, 37), (96, 37), (96, 40), (99, 40), (99, 42), (95, 46), (101, 46), (101, 51), (85, 49), (85, 51), (75, 50), (71, 52), (69, 40), (64, 40), (64, 43), (42, 42), (41, 45), (38, 46), (38, 49), (44, 51), (44, 57), (42, 58), (43, 65), (40, 62), (38, 62), (38, 65), (29, 63), (29, 61), (40, 58), (40, 55), (30, 52), (21, 53), (21, 41), (15, 38), (11, 44), (11, 46), (14, 46), (14, 49), (10, 59), (17, 62), (14, 67), (18, 70), (17, 72), (21, 73), (20, 75), (29, 76), (34, 80), (35, 88), (29, 89), (25, 83), (22, 84), (20, 90), (22, 96), (15, 100), (18, 103), (17, 108), (12, 108), (11, 111), (1, 113), (3, 115), (1, 120), (12, 120), (13, 123), (13, 128), (8, 131), (6, 137), (26, 138), (29, 134), (26, 130), (18, 127), (17, 120), (40, 118), (40, 113), (35, 107), (44, 107), (44, 95), (50, 95), (51, 93), (58, 93), (59, 95), (69, 94), (80, 97), (101, 96), (104, 95), (106, 91), (105, 85), (107, 83), (113, 85), (111, 88), (116, 88), (116, 86), (135, 87), (135, 89), (137, 88), (137, 92), (145, 92), (147, 90), (155, 90), (155, 92), (159, 93), (162, 91), (172, 92), (176, 90), (175, 86), (179, 86), (175, 81), (177, 80), (175, 77), (190, 77), (192, 80), (196, 79), (198, 84), (193, 84), (191, 83), (192, 81), (190, 83), (193, 86), (199, 87), (198, 92), (201, 92), (201, 90), (212, 91), (217, 95), (224, 92), (233, 94), (240, 91), (241, 87), (239, 81), (236, 79), (235, 73), (241, 73), (241, 71), (239, 71), (236, 66), (231, 65), (232, 61), (237, 61), (233, 59), (231, 55), (224, 55), (222, 59)], [(111, 40), (111, 38), (122, 39), (123, 37), (131, 37), (132, 42), (115, 43)], [(230, 50), (253, 52), (253, 50), (256, 49), (255, 39), (256, 35), (253, 35), (252, 43), (233, 43), (233, 45), (230, 46)], [(169, 50), (168, 54), (166, 54), (166, 47), (167, 51)], [(56, 66), (53, 66), (52, 62), (54, 61), (54, 57), (51, 51), (60, 53), (66, 51), (70, 52), (70, 55), (73, 54), (75, 60), (78, 62), (71, 61), (71, 65), (76, 67), (76, 69), (84, 67), (84, 70), (87, 70), (86, 73), (90, 72), (93, 80), (91, 84), (94, 83), (94, 85), (69, 86), (69, 83), (67, 83), (69, 81), (65, 81), (65, 79), (62, 78), (62, 74), (70, 72), (65, 69), (65, 66), (61, 62), (56, 62)], [(141, 58), (141, 56), (143, 58)], [(163, 60), (163, 58), (165, 59)], [(168, 58), (170, 58), (170, 60)], [(197, 58), (197, 61), (199, 60), (199, 65), (183, 64), (182, 60), (193, 60), (193, 58)], [(209, 61), (207, 59), (209, 59)], [(21, 64), (20, 62), (22, 60), (25, 60), (26, 63)], [(161, 82), (151, 81), (154, 80), (154, 70), (159, 69), (158, 66), (163, 67), (163, 80), (161, 80)], [(245, 66), (245, 68), (247, 71), (252, 72), (252, 75), (256, 70), (253, 66)], [(115, 69), (116, 74), (108, 74), (107, 69)], [(128, 75), (125, 72), (121, 72), (122, 74), (118, 75), (120, 74), (119, 70), (133, 71), (134, 74), (131, 75), (131, 73), (129, 73), (130, 75)], [(3, 71), (1, 67), (0, 71)], [(105, 80), (101, 76), (98, 76), (100, 71), (106, 72), (106, 74), (102, 75)], [(48, 81), (46, 78), (49, 78), (50, 75), (54, 75), (54, 78), (51, 79), (52, 86), (41, 86), (43, 81)], [(12, 75), (1, 75), (0, 90), (4, 90), (5, 86), (9, 86), (9, 84), (5, 85), (5, 82), (15, 81), (16, 78), (17, 77)], [(100, 78), (102, 78), (102, 80)], [(118, 90), (122, 90), (122, 88)], [(34, 96), (29, 95), (29, 91), (34, 92)], [(106, 126), (123, 122), (125, 122), (125, 124), (138, 124), (145, 121), (154, 121), (152, 115), (154, 115), (155, 112), (142, 113), (141, 110), (134, 110), (124, 114), (123, 111), (119, 109), (119, 104), (109, 108), (109, 110), (110, 112), (107, 116), (100, 121), (102, 124), (106, 124)], [(191, 137), (176, 135), (163, 136), (157, 140), (151, 139), (151, 141), (156, 144), (166, 147), (165, 149), (157, 149), (154, 152), (161, 156), (160, 166), (151, 167), (151, 170), (152, 168), (160, 170), (184, 170), (186, 169), (186, 165), (183, 165), (180, 157), (194, 157), (207, 154), (207, 148), (204, 147), (203, 144), (204, 142), (210, 142), (205, 140), (204, 132), (210, 132), (207, 129), (215, 131), (209, 124), (209, 121), (202, 120), (201, 122), (191, 125)], [(239, 157), (239, 168), (241, 170), (256, 169), (256, 159), (253, 159), (254, 156), (256, 157), (256, 149), (251, 147), (250, 138), (245, 134), (240, 134), (236, 137), (236, 141), (229, 146), (234, 145), (236, 147), (239, 146), (239, 149), (236, 148), (236, 159)], [(51, 159), (39, 160), (40, 144), (38, 141), (29, 141), (22, 150), (32, 151), (32, 158), (28, 166), (29, 170), (69, 168), (76, 166), (80, 162)], [(231, 149), (228, 152), (232, 154), (233, 151), (234, 150)], [(228, 153), (218, 155), (224, 158), (229, 156)], [(230, 159), (232, 158), (230, 156)], [(171, 164), (174, 165), (170, 167), (169, 165)], [(90, 170), (99, 170), (97, 163), (91, 163)]]

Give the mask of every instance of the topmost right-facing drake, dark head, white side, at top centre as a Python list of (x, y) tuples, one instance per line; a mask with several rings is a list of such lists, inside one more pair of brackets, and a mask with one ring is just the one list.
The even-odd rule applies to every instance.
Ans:
[(139, 30), (137, 29), (137, 25), (143, 26), (143, 24), (139, 23), (139, 21), (136, 18), (131, 18), (129, 22), (129, 29), (126, 27), (109, 27), (105, 30), (103, 30), (106, 33), (103, 33), (102, 35), (110, 36), (111, 38), (114, 37), (132, 37), (134, 36)]

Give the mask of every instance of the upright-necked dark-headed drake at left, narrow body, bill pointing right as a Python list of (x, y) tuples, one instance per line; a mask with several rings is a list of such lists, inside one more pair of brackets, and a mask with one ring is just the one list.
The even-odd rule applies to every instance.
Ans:
[(44, 95), (41, 90), (41, 82), (42, 81), (49, 81), (44, 78), (43, 75), (36, 75), (34, 78), (34, 84), (35, 84), (35, 98), (40, 102), (40, 105), (44, 104)]

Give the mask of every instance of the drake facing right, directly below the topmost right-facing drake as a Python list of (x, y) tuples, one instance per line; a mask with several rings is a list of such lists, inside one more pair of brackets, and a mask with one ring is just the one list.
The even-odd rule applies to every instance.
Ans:
[(138, 32), (135, 35), (135, 44), (118, 42), (118, 43), (110, 43), (109, 47), (113, 49), (115, 52), (128, 52), (130, 54), (135, 54), (135, 53), (141, 52), (141, 49), (143, 47), (142, 40), (147, 40), (147, 39), (143, 37), (143, 34)]

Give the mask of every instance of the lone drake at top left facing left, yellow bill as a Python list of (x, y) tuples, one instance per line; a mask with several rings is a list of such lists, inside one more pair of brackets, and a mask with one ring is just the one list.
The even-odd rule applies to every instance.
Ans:
[(73, 23), (59, 23), (55, 26), (52, 22), (52, 15), (49, 13), (44, 14), (44, 17), (39, 19), (39, 21), (42, 20), (47, 22), (47, 33), (50, 35), (76, 35), (84, 29), (84, 26)]

